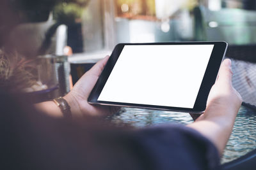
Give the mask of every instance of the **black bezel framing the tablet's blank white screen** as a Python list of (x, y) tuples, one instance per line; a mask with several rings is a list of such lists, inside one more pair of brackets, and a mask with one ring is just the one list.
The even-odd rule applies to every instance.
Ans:
[[(198, 96), (196, 97), (196, 101), (194, 107), (191, 108), (177, 108), (177, 107), (170, 107), (170, 106), (155, 106), (155, 105), (148, 105), (148, 104), (131, 104), (131, 103), (116, 103), (116, 102), (109, 102), (109, 101), (98, 101), (98, 97), (100, 92), (102, 91), (108, 77), (115, 66), (120, 53), (122, 52), (125, 45), (214, 45), (214, 48), (211, 53), (211, 57), (207, 64), (207, 68), (205, 70), (204, 78), (200, 85), (200, 89), (198, 92)], [(155, 109), (155, 110), (170, 110), (170, 111), (184, 111), (189, 113), (202, 113), (205, 110), (207, 97), (211, 90), (212, 85), (216, 81), (216, 77), (218, 71), (220, 69), (221, 61), (225, 56), (225, 52), (227, 50), (227, 43), (225, 41), (207, 41), (207, 42), (179, 42), (179, 43), (120, 43), (115, 46), (111, 57), (104, 67), (102, 73), (99, 76), (95, 87), (88, 97), (88, 102), (90, 104), (103, 104), (103, 105), (111, 105), (111, 106), (126, 106), (126, 107), (134, 107), (134, 108), (148, 108), (148, 109)]]

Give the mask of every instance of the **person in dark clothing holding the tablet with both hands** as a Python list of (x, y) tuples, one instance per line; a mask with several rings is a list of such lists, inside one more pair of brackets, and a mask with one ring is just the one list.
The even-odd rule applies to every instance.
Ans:
[[(19, 23), (17, 14), (3, 6), (0, 45)], [(109, 124), (104, 116), (118, 108), (87, 102), (108, 59), (95, 64), (63, 97), (70, 117), (53, 101), (31, 105), (0, 89), (0, 169), (220, 169), (220, 156), (241, 106), (229, 59), (221, 64), (206, 110), (195, 122), (141, 129)]]

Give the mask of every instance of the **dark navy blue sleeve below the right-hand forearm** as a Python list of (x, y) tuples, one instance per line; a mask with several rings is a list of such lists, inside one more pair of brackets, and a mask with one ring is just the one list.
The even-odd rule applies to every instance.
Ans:
[(136, 140), (152, 169), (220, 169), (217, 148), (189, 127), (149, 127), (138, 131)]

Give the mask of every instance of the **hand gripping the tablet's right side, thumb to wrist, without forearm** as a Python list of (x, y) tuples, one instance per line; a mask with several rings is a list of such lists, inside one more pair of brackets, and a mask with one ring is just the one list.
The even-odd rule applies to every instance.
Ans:
[(209, 93), (205, 113), (196, 121), (217, 117), (234, 121), (242, 99), (232, 86), (232, 74), (231, 60), (225, 59), (221, 64), (216, 83)]

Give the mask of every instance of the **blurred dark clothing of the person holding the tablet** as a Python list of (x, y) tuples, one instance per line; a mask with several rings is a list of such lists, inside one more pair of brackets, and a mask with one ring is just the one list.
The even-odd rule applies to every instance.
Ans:
[(0, 98), (0, 169), (219, 169), (215, 146), (182, 125), (71, 122)]

